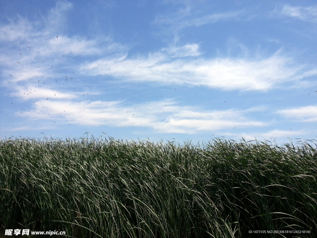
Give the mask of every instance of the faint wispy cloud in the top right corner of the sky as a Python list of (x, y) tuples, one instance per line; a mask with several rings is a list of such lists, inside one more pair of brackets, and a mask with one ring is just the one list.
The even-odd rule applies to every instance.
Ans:
[(281, 14), (301, 19), (303, 21), (317, 22), (317, 6), (311, 7), (293, 7), (285, 5), (281, 10)]

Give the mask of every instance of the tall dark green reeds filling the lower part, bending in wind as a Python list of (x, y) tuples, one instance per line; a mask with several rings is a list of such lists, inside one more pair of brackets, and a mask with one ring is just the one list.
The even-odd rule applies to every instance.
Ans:
[(75, 237), (316, 237), (316, 155), (308, 143), (2, 140), (0, 226)]

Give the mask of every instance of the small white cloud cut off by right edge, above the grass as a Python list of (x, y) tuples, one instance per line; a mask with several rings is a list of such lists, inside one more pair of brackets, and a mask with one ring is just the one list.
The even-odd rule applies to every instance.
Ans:
[(285, 117), (298, 119), (303, 122), (316, 122), (317, 121), (317, 106), (305, 106), (292, 109), (282, 109), (277, 111)]

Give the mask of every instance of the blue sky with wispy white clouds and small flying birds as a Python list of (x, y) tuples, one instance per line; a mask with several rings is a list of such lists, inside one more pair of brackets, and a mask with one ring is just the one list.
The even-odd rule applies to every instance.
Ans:
[(315, 1), (1, 1), (0, 139), (317, 139)]

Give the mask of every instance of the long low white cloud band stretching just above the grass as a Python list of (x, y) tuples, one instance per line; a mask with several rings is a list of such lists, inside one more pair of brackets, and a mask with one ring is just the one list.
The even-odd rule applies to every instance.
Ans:
[(78, 125), (111, 125), (117, 127), (148, 127), (160, 133), (215, 131), (239, 126), (262, 127), (264, 122), (248, 120), (239, 110), (199, 111), (176, 106), (170, 100), (124, 106), (122, 101), (71, 102), (41, 100), (35, 109), (19, 114), (32, 120), (46, 119)]

